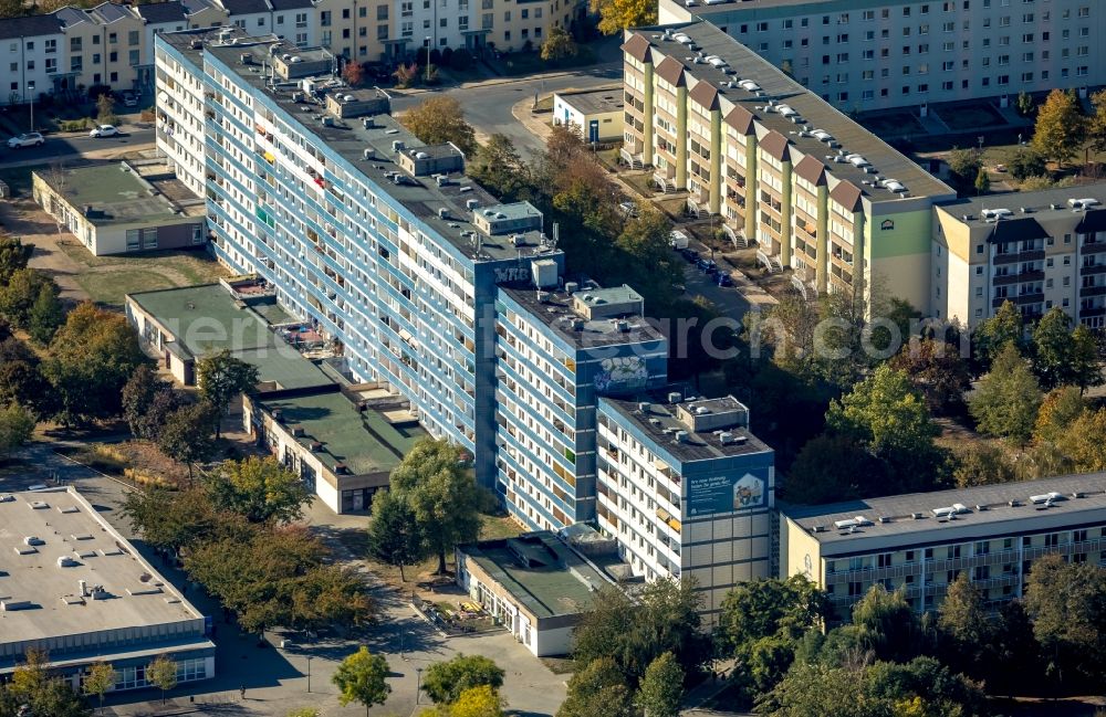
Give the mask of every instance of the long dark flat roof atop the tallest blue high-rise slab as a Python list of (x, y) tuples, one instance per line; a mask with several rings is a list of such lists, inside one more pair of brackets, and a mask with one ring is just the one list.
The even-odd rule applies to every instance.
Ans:
[[(481, 232), (472, 222), (473, 208), (484, 210), (501, 204), (462, 171), (442, 169), (418, 177), (406, 171), (397, 161), (400, 151), (421, 151), (432, 159), (444, 150), (418, 139), (390, 115), (335, 117), (326, 113), (325, 103), (319, 104), (304, 97), (299, 81), (270, 84), (262, 68), (273, 65), (270, 48), (276, 41), (272, 35), (254, 38), (238, 28), (213, 28), (167, 33), (159, 38), (198, 67), (204, 64), (205, 53), (227, 65), (242, 82), (267, 95), (296, 119), (305, 134), (314, 136), (319, 144), (353, 165), (376, 186), (376, 191), (401, 204), (467, 257), (503, 261), (561, 253), (550, 249), (536, 230), (498, 235)], [(199, 48), (192, 46), (196, 40), (199, 40)], [(286, 41), (280, 41), (273, 50), (276, 54), (291, 54), (293, 57), (307, 57), (307, 53), (315, 52), (315, 49), (303, 50)], [(249, 64), (243, 64), (243, 55), (249, 57)], [(321, 92), (334, 91), (343, 95), (349, 92), (348, 87), (337, 86), (337, 81), (328, 75), (315, 80)], [(382, 93), (382, 96), (386, 94), (374, 92)], [(366, 123), (366, 119), (369, 122)], [(439, 175), (441, 180), (436, 178)], [(519, 239), (515, 239), (517, 235)]]

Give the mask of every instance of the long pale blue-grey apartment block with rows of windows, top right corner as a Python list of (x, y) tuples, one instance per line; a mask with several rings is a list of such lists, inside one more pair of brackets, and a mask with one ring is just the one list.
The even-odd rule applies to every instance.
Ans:
[(844, 112), (1106, 84), (1092, 0), (659, 0), (659, 20), (708, 21)]

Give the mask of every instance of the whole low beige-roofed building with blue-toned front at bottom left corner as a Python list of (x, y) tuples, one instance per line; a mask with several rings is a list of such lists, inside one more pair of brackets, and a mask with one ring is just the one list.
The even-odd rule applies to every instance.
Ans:
[(30, 649), (74, 689), (111, 663), (114, 689), (147, 687), (158, 655), (186, 683), (215, 676), (201, 614), (73, 488), (0, 494), (0, 677)]

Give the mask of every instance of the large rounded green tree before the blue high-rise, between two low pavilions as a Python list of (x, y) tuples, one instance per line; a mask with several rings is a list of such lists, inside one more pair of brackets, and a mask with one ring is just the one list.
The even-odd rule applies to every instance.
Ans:
[(480, 535), (480, 508), (487, 502), (461, 450), (424, 439), (393, 470), (390, 484), (414, 510), (427, 549), (438, 556), (438, 574), (445, 573), (446, 555)]

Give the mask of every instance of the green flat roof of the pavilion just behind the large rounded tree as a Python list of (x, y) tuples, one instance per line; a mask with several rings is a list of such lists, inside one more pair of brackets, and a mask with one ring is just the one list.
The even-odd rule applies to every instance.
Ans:
[(390, 472), (426, 435), (418, 423), (395, 425), (372, 409), (358, 411), (338, 392), (260, 403), (270, 413), (280, 409), (285, 426), (302, 428), (304, 435), (298, 439), (302, 445), (312, 441), (322, 443), (323, 450), (314, 453), (331, 457), (324, 463), (344, 463), (354, 475)]

